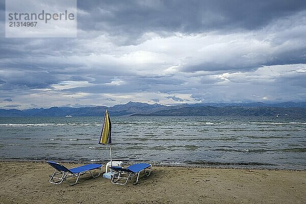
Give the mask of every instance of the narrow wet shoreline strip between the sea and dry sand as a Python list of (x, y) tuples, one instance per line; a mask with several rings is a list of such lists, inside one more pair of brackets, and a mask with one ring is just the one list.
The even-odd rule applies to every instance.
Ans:
[[(116, 161), (116, 160), (114, 160)], [(16, 160), (16, 159), (0, 159), (0, 162), (3, 163), (40, 163), (40, 164), (45, 164), (46, 160)], [(89, 163), (97, 163), (97, 164), (103, 164), (105, 165), (109, 161), (55, 161), (58, 163), (64, 163), (64, 164), (89, 164)], [(153, 166), (159, 166), (159, 167), (182, 167), (182, 168), (212, 168), (212, 169), (245, 169), (245, 170), (268, 170), (268, 171), (306, 171), (305, 169), (295, 169), (295, 168), (266, 168), (266, 167), (257, 167), (257, 166), (243, 166), (243, 165), (200, 165), (200, 164), (190, 164), (190, 163), (183, 163), (183, 162), (178, 162), (177, 164), (169, 164), (167, 163), (158, 163), (158, 162), (149, 162), (149, 161), (138, 161), (138, 162), (125, 162), (123, 161), (124, 165), (131, 165), (135, 163), (141, 163), (141, 162), (146, 162), (150, 163)]]

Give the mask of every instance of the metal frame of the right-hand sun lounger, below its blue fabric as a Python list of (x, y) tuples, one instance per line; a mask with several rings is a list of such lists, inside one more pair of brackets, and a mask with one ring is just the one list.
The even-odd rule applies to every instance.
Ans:
[[(132, 180), (132, 176), (134, 175), (137, 175), (137, 179), (136, 179), (136, 182), (133, 183), (133, 185), (136, 185), (138, 183), (138, 180), (139, 180), (139, 174), (141, 171), (144, 171), (146, 177), (149, 176), (151, 174), (151, 168), (152, 168), (152, 165), (138, 171), (138, 172), (134, 172), (134, 171), (131, 171), (130, 169), (127, 169), (127, 168), (123, 168), (123, 167), (110, 167), (111, 169), (114, 170), (114, 175), (112, 176), (112, 184), (118, 184), (118, 185), (125, 185), (127, 183), (127, 181), (129, 181), (129, 179)], [(149, 168), (149, 172), (147, 173), (146, 172), (146, 169)], [(120, 170), (119, 170), (120, 169)], [(127, 177), (126, 177), (127, 175)], [(125, 180), (124, 183), (119, 183), (120, 180)]]

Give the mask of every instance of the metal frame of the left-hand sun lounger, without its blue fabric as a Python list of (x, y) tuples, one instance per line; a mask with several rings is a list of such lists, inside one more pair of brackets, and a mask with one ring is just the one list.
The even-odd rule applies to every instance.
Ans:
[[(63, 181), (65, 181), (66, 179), (68, 179), (69, 177), (75, 177), (77, 176), (77, 180), (75, 181), (74, 184), (72, 185), (75, 185), (78, 183), (79, 181), (79, 177), (80, 175), (83, 175), (85, 174), (86, 171), (89, 171), (90, 175), (95, 178), (95, 177), (98, 177), (100, 174), (101, 174), (101, 171), (102, 171), (102, 167), (103, 165), (101, 165), (100, 168), (94, 168), (94, 169), (100, 169), (99, 170), (99, 174), (94, 176), (92, 173), (91, 173), (91, 170), (94, 170), (94, 169), (90, 169), (90, 170), (84, 170), (84, 171), (81, 171), (81, 172), (78, 172), (78, 173), (73, 173), (70, 171), (70, 169), (67, 169), (65, 166), (57, 163), (57, 162), (49, 162), (47, 161), (47, 163), (52, 166), (53, 168), (55, 168), (55, 171), (52, 175), (50, 175), (50, 180), (49, 182), (52, 183), (52, 184), (61, 184)], [(61, 166), (61, 169), (57, 168), (57, 166), (53, 165), (53, 163), (56, 163), (57, 165), (60, 165)], [(57, 177), (57, 175), (62, 175), (61, 177)], [(71, 185), (71, 186), (72, 186)]]

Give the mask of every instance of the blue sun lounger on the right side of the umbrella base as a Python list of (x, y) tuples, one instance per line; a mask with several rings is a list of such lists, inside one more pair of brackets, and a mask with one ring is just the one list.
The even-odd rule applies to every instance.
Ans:
[[(137, 180), (135, 183), (133, 183), (133, 185), (135, 185), (138, 183), (139, 173), (141, 171), (144, 171), (146, 176), (150, 175), (152, 165), (147, 163), (138, 163), (138, 164), (133, 164), (126, 168), (119, 166), (111, 166), (110, 168), (115, 171), (112, 177), (113, 184), (125, 185), (132, 175), (137, 175)], [(148, 169), (149, 171), (148, 173), (145, 171), (146, 169)], [(120, 180), (123, 180), (123, 182), (120, 182)]]

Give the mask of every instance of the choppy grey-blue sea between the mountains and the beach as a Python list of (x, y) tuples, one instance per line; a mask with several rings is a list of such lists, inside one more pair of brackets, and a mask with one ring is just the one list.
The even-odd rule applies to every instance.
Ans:
[(306, 118), (111, 116), (100, 145), (103, 119), (0, 118), (0, 160), (306, 169)]

